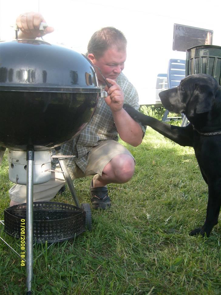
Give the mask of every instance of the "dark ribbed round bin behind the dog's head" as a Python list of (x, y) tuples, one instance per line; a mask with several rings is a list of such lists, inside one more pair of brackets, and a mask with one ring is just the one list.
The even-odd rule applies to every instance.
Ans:
[(221, 85), (221, 46), (200, 45), (186, 50), (186, 76), (207, 74)]

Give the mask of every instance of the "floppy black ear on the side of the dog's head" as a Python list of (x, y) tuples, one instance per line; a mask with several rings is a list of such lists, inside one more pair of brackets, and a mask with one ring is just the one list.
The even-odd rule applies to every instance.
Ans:
[(188, 115), (207, 113), (211, 110), (214, 99), (213, 89), (209, 85), (195, 84), (195, 90), (188, 102)]

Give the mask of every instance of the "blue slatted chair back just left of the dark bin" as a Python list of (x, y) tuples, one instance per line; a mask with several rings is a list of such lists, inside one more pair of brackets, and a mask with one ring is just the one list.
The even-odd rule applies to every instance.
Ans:
[(185, 78), (185, 63), (183, 59), (170, 59), (168, 64), (168, 88), (179, 86), (180, 81)]

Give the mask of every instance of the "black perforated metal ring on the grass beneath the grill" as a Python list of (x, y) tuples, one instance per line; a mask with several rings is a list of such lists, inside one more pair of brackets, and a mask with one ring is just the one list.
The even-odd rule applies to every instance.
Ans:
[[(20, 238), (26, 203), (4, 210), (6, 233)], [(85, 211), (61, 202), (33, 202), (33, 239), (36, 243), (66, 241), (85, 231)]]

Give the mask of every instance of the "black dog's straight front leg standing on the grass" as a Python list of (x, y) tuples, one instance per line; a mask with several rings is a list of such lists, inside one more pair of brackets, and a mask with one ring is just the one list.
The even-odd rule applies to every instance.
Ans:
[(212, 183), (209, 183), (209, 197), (208, 204), (206, 210), (206, 220), (202, 227), (195, 228), (189, 234), (191, 236), (201, 234), (202, 236), (209, 234), (214, 227), (218, 223), (219, 210), (221, 206), (221, 179), (217, 179)]

